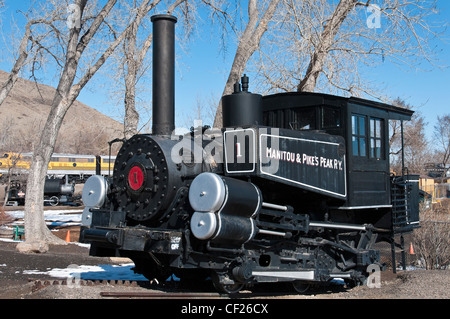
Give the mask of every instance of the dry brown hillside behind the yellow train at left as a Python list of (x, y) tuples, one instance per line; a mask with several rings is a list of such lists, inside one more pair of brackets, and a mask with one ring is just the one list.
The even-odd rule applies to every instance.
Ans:
[[(0, 83), (8, 73), (0, 70)], [(32, 151), (50, 112), (55, 88), (19, 78), (0, 106), (0, 150)], [(67, 112), (55, 152), (107, 154), (108, 141), (122, 137), (121, 123), (79, 102)]]

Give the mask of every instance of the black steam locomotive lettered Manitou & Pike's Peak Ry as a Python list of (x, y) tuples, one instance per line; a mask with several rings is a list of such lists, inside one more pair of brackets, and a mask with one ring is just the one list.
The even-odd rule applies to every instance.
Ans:
[(123, 142), (112, 178), (83, 189), (81, 241), (149, 279), (246, 284), (367, 281), (378, 241), (418, 227), (418, 179), (389, 170), (388, 120), (412, 111), (317, 93), (268, 96), (242, 77), (223, 129), (174, 131), (174, 26), (152, 17), (153, 134)]

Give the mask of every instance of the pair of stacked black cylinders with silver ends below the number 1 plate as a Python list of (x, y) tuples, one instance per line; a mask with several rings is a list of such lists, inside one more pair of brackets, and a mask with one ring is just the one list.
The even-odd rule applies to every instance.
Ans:
[(198, 239), (242, 244), (257, 233), (252, 217), (261, 209), (262, 196), (252, 183), (202, 173), (192, 182), (189, 202), (195, 210), (191, 230)]

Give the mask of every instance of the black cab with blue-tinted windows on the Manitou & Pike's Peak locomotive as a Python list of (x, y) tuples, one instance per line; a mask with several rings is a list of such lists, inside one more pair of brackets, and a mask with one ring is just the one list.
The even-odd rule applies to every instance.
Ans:
[(275, 94), (263, 103), (264, 125), (345, 139), (347, 200), (340, 209), (391, 207), (389, 120), (410, 120), (413, 111), (321, 93)]

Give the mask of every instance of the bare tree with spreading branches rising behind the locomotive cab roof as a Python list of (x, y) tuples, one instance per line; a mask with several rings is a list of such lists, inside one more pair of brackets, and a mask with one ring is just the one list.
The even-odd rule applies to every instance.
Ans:
[[(377, 5), (378, 4), (378, 5)], [(259, 50), (266, 91), (322, 91), (387, 100), (364, 70), (434, 63), (443, 31), (435, 1), (284, 0)]]

